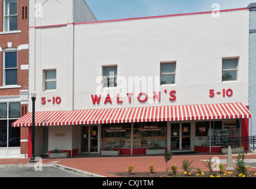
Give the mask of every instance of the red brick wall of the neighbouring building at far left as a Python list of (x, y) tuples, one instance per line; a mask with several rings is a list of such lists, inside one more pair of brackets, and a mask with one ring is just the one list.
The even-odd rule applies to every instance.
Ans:
[[(21, 65), (28, 65), (28, 49), (18, 49), (20, 45), (28, 45), (28, 0), (18, 0), (18, 24), (15, 33), (3, 32), (3, 1), (0, 1), (0, 96), (20, 95), (20, 90), (28, 90), (28, 69), (21, 69)], [(3, 86), (3, 51), (11, 43), (12, 48), (17, 48), (17, 86), (5, 88)], [(21, 47), (21, 46), (20, 46)], [(1, 87), (3, 89), (1, 89)], [(28, 110), (28, 104), (21, 104), (21, 116)], [(21, 154), (28, 154), (28, 128), (21, 128)]]

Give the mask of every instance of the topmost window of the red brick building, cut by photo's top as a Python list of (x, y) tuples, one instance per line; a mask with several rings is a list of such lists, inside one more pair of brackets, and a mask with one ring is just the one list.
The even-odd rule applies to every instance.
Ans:
[(15, 31), (18, 25), (17, 0), (4, 0), (4, 31)]

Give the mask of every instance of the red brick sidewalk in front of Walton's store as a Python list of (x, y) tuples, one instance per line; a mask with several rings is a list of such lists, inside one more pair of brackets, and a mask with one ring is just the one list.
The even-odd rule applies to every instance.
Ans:
[[(237, 154), (232, 154), (232, 159), (236, 159)], [(177, 167), (182, 165), (182, 161), (193, 161), (194, 168), (200, 167), (202, 171), (208, 171), (203, 162), (210, 157), (218, 157), (220, 162), (225, 163), (227, 155), (223, 154), (206, 154), (206, 153), (193, 153), (193, 154), (173, 154), (173, 157), (168, 161), (168, 167), (172, 164), (176, 164)], [(1, 167), (25, 167), (34, 166), (29, 163), (30, 159), (0, 159)], [(247, 152), (245, 155), (246, 162), (256, 164), (256, 153)], [(166, 162), (163, 155), (147, 156), (124, 156), (119, 157), (102, 157), (101, 155), (77, 155), (73, 158), (59, 158), (59, 159), (42, 159), (44, 166), (56, 166), (67, 171), (74, 171), (80, 174), (88, 174), (88, 177), (117, 177), (111, 172), (125, 172), (128, 165), (134, 166), (134, 172), (148, 172), (150, 164), (154, 165), (155, 171), (166, 171)], [(255, 167), (249, 168), (251, 171), (256, 171)], [(182, 170), (179, 170), (182, 171)]]

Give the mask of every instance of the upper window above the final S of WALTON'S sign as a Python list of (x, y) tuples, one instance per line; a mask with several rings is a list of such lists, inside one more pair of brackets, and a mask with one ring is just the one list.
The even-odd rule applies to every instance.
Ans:
[(175, 74), (176, 74), (176, 63), (160, 64), (161, 84), (174, 84)]

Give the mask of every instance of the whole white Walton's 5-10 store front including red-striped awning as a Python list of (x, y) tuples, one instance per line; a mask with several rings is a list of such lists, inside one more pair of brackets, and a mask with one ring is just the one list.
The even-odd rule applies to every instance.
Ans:
[[(35, 2), (36, 155), (221, 152), (248, 136), (248, 8), (96, 21), (85, 1)], [(13, 126), (31, 128), (31, 113)]]

